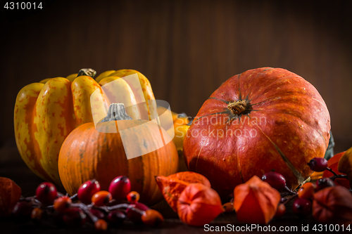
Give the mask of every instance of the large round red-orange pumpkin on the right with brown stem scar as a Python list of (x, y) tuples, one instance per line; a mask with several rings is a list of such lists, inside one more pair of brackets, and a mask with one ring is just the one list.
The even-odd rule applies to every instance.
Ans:
[(324, 157), (330, 117), (315, 87), (281, 68), (237, 74), (203, 103), (184, 139), (184, 160), (224, 198), (252, 176), (277, 171), (296, 188)]

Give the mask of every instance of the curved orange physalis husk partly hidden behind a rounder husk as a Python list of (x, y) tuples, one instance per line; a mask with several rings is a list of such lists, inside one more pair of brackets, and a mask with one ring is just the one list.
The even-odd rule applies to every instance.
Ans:
[(189, 183), (202, 183), (210, 188), (210, 182), (206, 177), (191, 171), (182, 171), (170, 176), (156, 176), (156, 183), (166, 202), (175, 212), (177, 212), (178, 197)]

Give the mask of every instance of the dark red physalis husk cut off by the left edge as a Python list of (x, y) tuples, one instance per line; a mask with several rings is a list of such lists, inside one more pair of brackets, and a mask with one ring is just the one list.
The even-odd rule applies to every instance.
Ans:
[(0, 217), (11, 214), (21, 193), (21, 188), (10, 178), (0, 177)]

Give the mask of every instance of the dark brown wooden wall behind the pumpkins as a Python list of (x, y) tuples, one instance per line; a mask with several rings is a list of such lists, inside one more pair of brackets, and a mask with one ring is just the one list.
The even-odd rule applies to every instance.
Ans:
[[(157, 99), (195, 116), (234, 74), (283, 67), (327, 103), (337, 148), (352, 146), (352, 1), (42, 1), (1, 12), (1, 143), (26, 84), (131, 68)], [(2, 8), (2, 6), (1, 6)]]

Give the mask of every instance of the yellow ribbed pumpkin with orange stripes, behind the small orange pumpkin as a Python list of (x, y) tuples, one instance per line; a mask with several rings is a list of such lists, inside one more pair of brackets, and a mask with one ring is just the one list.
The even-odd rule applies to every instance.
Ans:
[[(61, 185), (58, 174), (58, 153), (61, 145), (77, 126), (94, 122), (89, 98), (94, 91), (102, 96), (103, 84), (137, 73), (145, 100), (155, 99), (148, 79), (136, 70), (103, 72), (97, 77), (97, 81), (92, 79), (95, 73), (94, 70), (86, 69), (66, 78), (44, 79), (23, 87), (18, 93), (14, 110), (18, 151), (27, 167), (46, 181)], [(107, 77), (109, 74), (114, 74), (114, 77)], [(140, 93), (136, 93), (138, 95)], [(134, 98), (134, 93), (131, 96)], [(109, 104), (104, 98), (97, 101), (106, 106)], [(106, 113), (103, 103), (99, 103), (95, 110), (97, 116)], [(153, 119), (156, 108), (149, 106), (148, 102), (143, 108), (148, 110), (149, 119)]]

